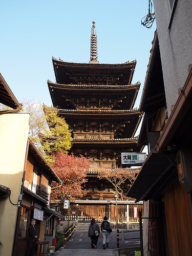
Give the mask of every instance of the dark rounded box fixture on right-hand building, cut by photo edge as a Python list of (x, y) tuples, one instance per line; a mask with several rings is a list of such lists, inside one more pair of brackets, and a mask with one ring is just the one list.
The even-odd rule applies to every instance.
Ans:
[(177, 152), (179, 182), (186, 193), (192, 193), (192, 150), (181, 148)]

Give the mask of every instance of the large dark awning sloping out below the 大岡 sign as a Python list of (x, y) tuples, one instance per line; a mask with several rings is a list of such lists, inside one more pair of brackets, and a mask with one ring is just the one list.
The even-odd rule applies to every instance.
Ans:
[(150, 199), (152, 188), (166, 174), (168, 169), (174, 166), (175, 161), (176, 155), (150, 152), (136, 180), (128, 190), (127, 196), (135, 198), (137, 201)]

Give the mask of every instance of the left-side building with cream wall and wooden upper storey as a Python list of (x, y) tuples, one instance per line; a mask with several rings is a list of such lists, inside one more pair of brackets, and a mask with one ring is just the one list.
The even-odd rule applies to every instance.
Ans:
[[(61, 182), (28, 139), (29, 113), (19, 104), (0, 73), (0, 255), (23, 256), (28, 227), (36, 219), (36, 231), (50, 245), (55, 238), (56, 218), (50, 209), (51, 182)], [(47, 249), (47, 248), (46, 248)]]

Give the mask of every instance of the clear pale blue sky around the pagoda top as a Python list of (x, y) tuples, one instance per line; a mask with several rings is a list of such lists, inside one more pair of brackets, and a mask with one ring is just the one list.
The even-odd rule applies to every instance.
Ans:
[(148, 0), (6, 0), (1, 1), (0, 72), (20, 103), (51, 105), (47, 80), (55, 82), (52, 56), (88, 63), (92, 22), (97, 31), (99, 63), (137, 60), (132, 83), (141, 82), (156, 30), (141, 25)]

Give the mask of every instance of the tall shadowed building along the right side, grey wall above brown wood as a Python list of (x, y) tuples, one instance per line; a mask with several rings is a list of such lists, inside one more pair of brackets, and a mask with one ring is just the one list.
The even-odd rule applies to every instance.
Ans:
[(153, 1), (157, 31), (141, 97), (148, 157), (128, 195), (144, 200), (144, 255), (191, 253), (192, 3)]

